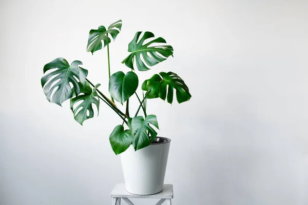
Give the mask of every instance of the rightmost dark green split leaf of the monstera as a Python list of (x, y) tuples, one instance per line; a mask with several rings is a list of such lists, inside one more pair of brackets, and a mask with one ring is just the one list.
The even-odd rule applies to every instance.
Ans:
[(167, 97), (168, 103), (172, 104), (175, 89), (178, 103), (183, 103), (190, 99), (189, 89), (181, 77), (173, 72), (160, 72), (159, 74), (162, 78), (155, 74), (143, 82), (141, 89), (145, 91), (150, 90), (147, 98), (160, 97), (165, 100)]

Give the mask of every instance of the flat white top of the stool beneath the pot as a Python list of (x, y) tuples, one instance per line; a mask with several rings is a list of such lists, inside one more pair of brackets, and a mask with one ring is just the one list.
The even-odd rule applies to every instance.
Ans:
[(117, 183), (114, 186), (113, 190), (110, 193), (110, 197), (113, 198), (162, 198), (162, 199), (171, 199), (173, 198), (173, 186), (172, 185), (164, 185), (163, 191), (157, 194), (151, 195), (137, 195), (131, 194), (126, 191), (125, 183)]

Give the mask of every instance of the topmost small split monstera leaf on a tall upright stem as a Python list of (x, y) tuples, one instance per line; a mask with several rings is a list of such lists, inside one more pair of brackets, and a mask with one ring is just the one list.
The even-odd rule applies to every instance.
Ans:
[(104, 26), (100, 26), (98, 29), (92, 29), (89, 32), (87, 51), (91, 52), (92, 55), (95, 51), (102, 49), (102, 40), (104, 42), (104, 47), (107, 46), (111, 42), (108, 37), (108, 33), (111, 35), (113, 40), (120, 33), (122, 28), (122, 20), (118, 20), (114, 22), (108, 27), (108, 30)]

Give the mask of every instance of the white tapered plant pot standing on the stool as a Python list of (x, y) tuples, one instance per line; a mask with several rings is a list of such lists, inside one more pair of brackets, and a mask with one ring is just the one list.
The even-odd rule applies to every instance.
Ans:
[(170, 139), (134, 151), (130, 146), (120, 154), (126, 190), (132, 194), (149, 195), (163, 190)]

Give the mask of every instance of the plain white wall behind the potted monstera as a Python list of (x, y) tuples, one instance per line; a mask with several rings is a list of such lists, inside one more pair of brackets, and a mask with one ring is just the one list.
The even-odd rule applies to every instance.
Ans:
[[(81, 60), (107, 93), (106, 50), (88, 32), (122, 19), (112, 72), (136, 31), (174, 46), (160, 71), (189, 86), (188, 103), (149, 101), (170, 137), (165, 182), (174, 204), (308, 204), (307, 1), (9, 1), (0, 3), (0, 204), (109, 204), (123, 181), (101, 105), (84, 126), (40, 85), (56, 57)], [(144, 201), (141, 201), (144, 202)], [(141, 203), (140, 202), (140, 203)], [(139, 204), (140, 204), (139, 203)]]

